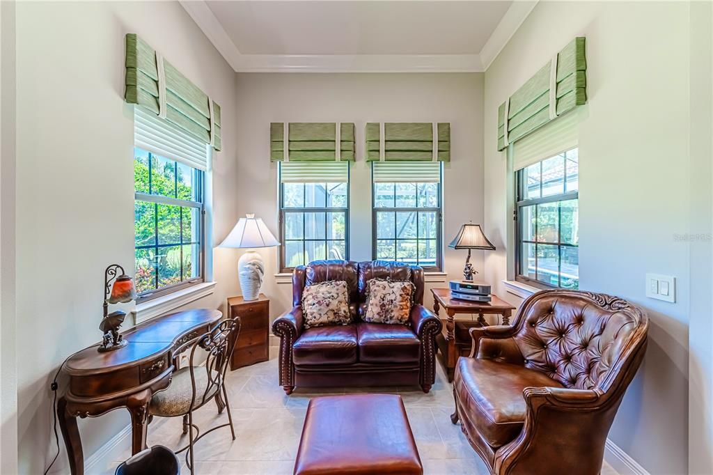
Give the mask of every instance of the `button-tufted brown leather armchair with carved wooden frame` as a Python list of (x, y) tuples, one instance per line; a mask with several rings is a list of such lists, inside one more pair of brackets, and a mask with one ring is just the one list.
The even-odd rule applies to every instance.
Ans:
[(471, 329), (456, 365), (453, 424), (493, 474), (599, 474), (649, 322), (617, 297), (545, 290), (512, 327)]

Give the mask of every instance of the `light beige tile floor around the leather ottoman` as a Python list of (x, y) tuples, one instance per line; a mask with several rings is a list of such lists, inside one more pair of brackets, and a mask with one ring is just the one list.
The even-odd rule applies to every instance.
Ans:
[[(217, 429), (195, 446), (195, 473), (200, 475), (292, 474), (302, 422), (311, 397), (345, 392), (398, 393), (419, 448), (426, 474), (488, 474), (483, 461), (466, 441), (460, 426), (451, 424), (453, 395), (451, 384), (438, 366), (436, 384), (429, 394), (419, 387), (295, 389), (287, 396), (277, 382), (277, 348), (270, 349), (270, 361), (229, 372), (228, 398), (232, 407), (236, 439), (230, 429)], [(195, 414), (202, 430), (227, 422), (225, 412), (218, 415), (215, 404), (207, 404)], [(181, 435), (180, 418), (155, 419), (148, 429), (148, 445), (163, 444), (172, 449), (183, 446), (188, 436)], [(130, 456), (128, 451), (121, 454)], [(182, 474), (190, 473), (183, 461)], [(107, 467), (106, 475), (113, 474)], [(605, 466), (602, 475), (615, 474)]]

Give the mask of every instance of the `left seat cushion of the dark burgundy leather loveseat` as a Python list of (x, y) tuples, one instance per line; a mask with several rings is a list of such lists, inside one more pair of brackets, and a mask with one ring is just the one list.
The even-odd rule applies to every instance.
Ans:
[(356, 363), (356, 325), (304, 330), (292, 345), (292, 360), (296, 366)]

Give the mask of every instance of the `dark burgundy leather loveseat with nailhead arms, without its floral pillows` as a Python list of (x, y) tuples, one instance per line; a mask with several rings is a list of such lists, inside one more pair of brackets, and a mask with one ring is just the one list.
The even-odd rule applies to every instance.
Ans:
[[(373, 278), (411, 280), (416, 287), (408, 325), (361, 320), (366, 282)], [(351, 325), (304, 330), (302, 290), (325, 280), (344, 280)], [(423, 305), (424, 270), (400, 262), (319, 260), (292, 272), (293, 308), (278, 317), (272, 332), (280, 338), (279, 384), (287, 394), (295, 386), (411, 386), (429, 392), (436, 378), (436, 334), (441, 320)]]

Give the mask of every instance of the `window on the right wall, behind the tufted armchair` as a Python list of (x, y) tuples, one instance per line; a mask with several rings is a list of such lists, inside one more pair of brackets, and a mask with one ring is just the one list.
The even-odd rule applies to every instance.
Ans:
[(515, 172), (515, 280), (579, 288), (578, 149)]

